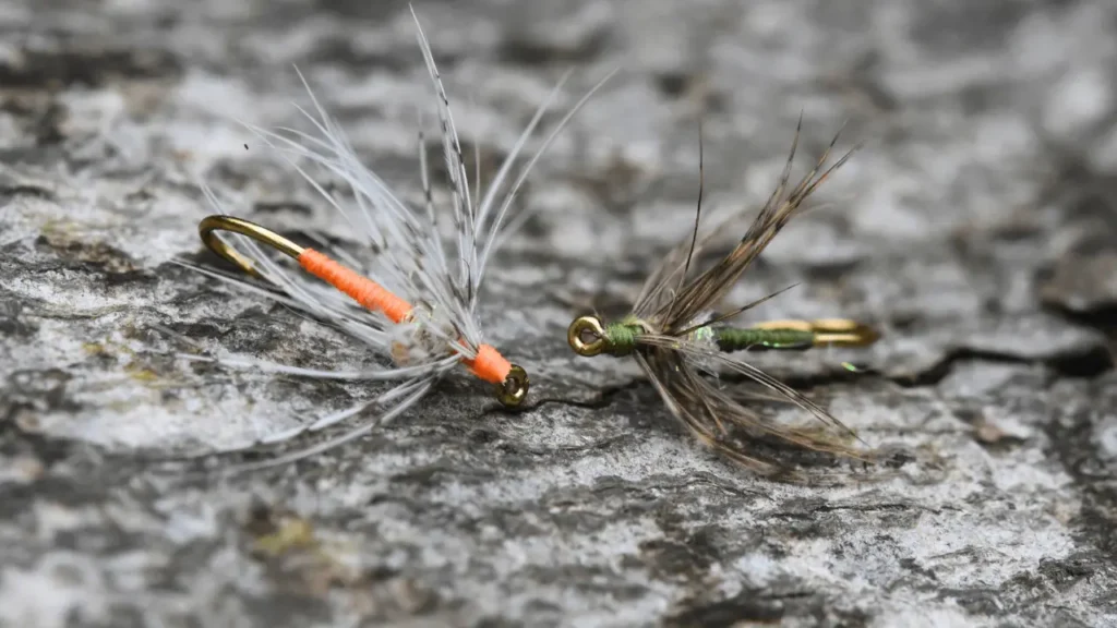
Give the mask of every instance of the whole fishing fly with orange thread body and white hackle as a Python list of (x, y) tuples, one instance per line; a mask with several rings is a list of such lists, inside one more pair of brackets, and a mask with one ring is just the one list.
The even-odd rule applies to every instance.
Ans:
[[(375, 172), (361, 163), (337, 123), (309, 93), (309, 86), (306, 88), (314, 112), (299, 112), (311, 122), (314, 132), (246, 126), (295, 168), (319, 193), (324, 203), (344, 217), (352, 232), (372, 254), (371, 263), (361, 264), (342, 251), (327, 254), (304, 248), (265, 227), (228, 216), (216, 194), (202, 184), (207, 198), (219, 211), (199, 225), (203, 242), (251, 279), (197, 266), (192, 268), (340, 329), (390, 364), (366, 371), (324, 371), (264, 361), (194, 359), (307, 378), (397, 382), (371, 401), (309, 420), (296, 429), (271, 435), (237, 450), (289, 440), (307, 431), (337, 425), (366, 410), (374, 415), (360, 427), (319, 445), (246, 465), (238, 470), (305, 458), (357, 438), (407, 410), (431, 389), (436, 380), (457, 369), (464, 368), (493, 386), (496, 398), (505, 406), (518, 406), (527, 394), (527, 372), (485, 341), (477, 315), (478, 295), (493, 254), (508, 236), (505, 218), (528, 172), (575, 112), (609, 77), (571, 107), (532, 159), (514, 173), (515, 162), (560, 93), (566, 79), (564, 76), (540, 106), (483, 193), (479, 178), (472, 189), (469, 185), (449, 99), (413, 10), (412, 17), (435, 94), (449, 179), (449, 202), (446, 203), (449, 208), (436, 207), (439, 203), (431, 190), (421, 130), (418, 139), (424, 203), (412, 208)], [(340, 194), (327, 191), (304, 168), (307, 163), (340, 180), (346, 197), (340, 198)], [(439, 230), (440, 221), (447, 219), (454, 227), (449, 239), (443, 238)], [(230, 235), (239, 240), (239, 248), (232, 246)], [(275, 253), (290, 258), (298, 268), (289, 260), (284, 263), (281, 256), (277, 259)]]

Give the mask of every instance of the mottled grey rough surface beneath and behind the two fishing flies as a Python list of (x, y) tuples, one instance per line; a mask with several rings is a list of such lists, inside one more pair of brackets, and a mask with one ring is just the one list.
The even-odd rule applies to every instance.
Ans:
[[(414, 198), (429, 92), (407, 4), (0, 3), (0, 624), (1117, 626), (1117, 4), (417, 9), (486, 170), (563, 70), (569, 105), (622, 68), (541, 162), (519, 208), (538, 212), (489, 277), (487, 329), (533, 402), (509, 413), (451, 378), (359, 443), (218, 482), (141, 454), (375, 387), (173, 358), (370, 359), (171, 263), (211, 260), (197, 178), (231, 212), (349, 241), (229, 122), (299, 124), (297, 64)], [(799, 282), (751, 320), (884, 327), (863, 356), (879, 374), (760, 362), (916, 451), (901, 479), (756, 479), (633, 364), (565, 346), (572, 316), (623, 311), (687, 232), (698, 114), (716, 213), (766, 197), (800, 112), (804, 159), (843, 121), (866, 149), (729, 302)]]

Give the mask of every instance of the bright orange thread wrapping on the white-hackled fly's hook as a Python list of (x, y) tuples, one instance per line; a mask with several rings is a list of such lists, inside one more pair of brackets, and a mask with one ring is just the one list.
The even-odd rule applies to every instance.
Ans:
[[(411, 304), (407, 301), (395, 296), (376, 282), (342, 266), (312, 248), (303, 249), (302, 255), (298, 256), (298, 264), (307, 273), (347, 294), (364, 307), (383, 312), (393, 323), (400, 323), (411, 314)], [(402, 354), (395, 355), (395, 348), (393, 348), (393, 359), (399, 362), (400, 358)], [(462, 358), (461, 362), (469, 368), (471, 373), (490, 383), (504, 383), (512, 371), (512, 363), (488, 344), (477, 348), (477, 358), (472, 360)]]

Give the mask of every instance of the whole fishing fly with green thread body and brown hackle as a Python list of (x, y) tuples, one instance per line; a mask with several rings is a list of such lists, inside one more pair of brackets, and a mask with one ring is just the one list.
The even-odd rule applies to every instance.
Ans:
[[(789, 479), (804, 476), (774, 456), (761, 451), (746, 435), (775, 437), (777, 440), (811, 450), (873, 462), (875, 454), (857, 446), (860, 439), (827, 410), (761, 369), (734, 355), (741, 351), (805, 351), (819, 346), (861, 348), (876, 342), (878, 334), (869, 326), (844, 318), (818, 321), (770, 321), (752, 326), (733, 326), (727, 321), (776, 296), (771, 294), (732, 312), (716, 316), (713, 307), (733, 287), (764, 247), (795, 217), (804, 201), (856, 151), (850, 150), (832, 164), (828, 149), (810, 172), (791, 181), (791, 166), (799, 144), (802, 120), (795, 130), (787, 161), (780, 181), (761, 208), (744, 237), (716, 264), (688, 278), (695, 255), (709, 246), (714, 236), (724, 232), (729, 216), (710, 235), (698, 238), (701, 215), (699, 185), (698, 210), (693, 234), (675, 247), (646, 279), (631, 312), (620, 321), (605, 322), (599, 316), (581, 316), (567, 330), (567, 342), (582, 356), (632, 356), (652, 382), (670, 412), (701, 443), (747, 468), (768, 476)], [(699, 134), (700, 137), (700, 134)], [(699, 148), (700, 148), (699, 139)], [(699, 163), (701, 161), (699, 150)], [(701, 165), (699, 165), (699, 173)], [(787, 289), (787, 288), (784, 288)], [(780, 291), (783, 292), (783, 291)], [(762, 386), (775, 398), (790, 401), (821, 421), (822, 429), (792, 427), (765, 418), (742, 403), (725, 388), (704, 373), (729, 371)]]

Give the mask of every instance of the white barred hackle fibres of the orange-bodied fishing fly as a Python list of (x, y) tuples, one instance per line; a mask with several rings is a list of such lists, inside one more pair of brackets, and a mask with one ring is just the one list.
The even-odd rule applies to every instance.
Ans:
[[(375, 416), (361, 426), (324, 443), (297, 449), (281, 457), (261, 463), (245, 464), (226, 470), (246, 470), (283, 465), (325, 451), (343, 443), (357, 438), (385, 421), (399, 416), (429, 392), (435, 381), (447, 372), (460, 368), (462, 358), (474, 359), (484, 342), (481, 325), (476, 313), (477, 295), (485, 276), (490, 256), (504, 242), (507, 234), (502, 230), (505, 218), (528, 172), (558, 132), (570, 122), (574, 113), (596, 92), (612, 73), (599, 82), (555, 125), (540, 150), (524, 165), (510, 187), (503, 189), (512, 168), (542, 121), (548, 106), (557, 96), (569, 74), (540, 106), (531, 123), (518, 137), (507, 159), (494, 177), (484, 196), (469, 189), (469, 180), (461, 156), (449, 98), (435, 65), (430, 44), (416, 21), (417, 39), (422, 51), (427, 70), (436, 94), (438, 120), (441, 130), (442, 152), (451, 187), (451, 216), (456, 236), (443, 242), (438, 230), (438, 211), (430, 188), (426, 149), (422, 132), (420, 141), (420, 174), (424, 193), (424, 206), (413, 209), (404, 203), (375, 172), (365, 168), (351, 148), (345, 134), (315, 98), (302, 74), (299, 78), (309, 94), (314, 113), (298, 111), (312, 123), (316, 133), (305, 133), (292, 129), (268, 131), (245, 124), (267, 146), (275, 149), (296, 171), (336, 209), (352, 226), (363, 244), (375, 255), (370, 265), (361, 265), (352, 257), (338, 251), (330, 251), (338, 259), (359, 270), (370, 279), (404, 298), (416, 307), (417, 321), (399, 325), (383, 314), (371, 312), (356, 305), (341, 292), (309, 276), (302, 269), (283, 265), (267, 255), (255, 241), (239, 236), (238, 247), (248, 253), (259, 264), (257, 270), (273, 289), (259, 283), (244, 280), (223, 273), (199, 268), (180, 263), (208, 276), (264, 296), (276, 303), (313, 316), (336, 327), (373, 349), (392, 365), (362, 371), (326, 371), (277, 364), (264, 360), (236, 360), (189, 355), (191, 360), (216, 362), (229, 368), (252, 369), (269, 373), (283, 373), (313, 379), (341, 380), (394, 380), (388, 391), (370, 400), (324, 417), (313, 419), (294, 429), (273, 434), (242, 447), (222, 449), (238, 451), (259, 445), (290, 440), (303, 434), (335, 426), (365, 410), (375, 408)], [(297, 69), (296, 69), (297, 72)], [(476, 143), (475, 143), (476, 144)], [(302, 165), (311, 163), (340, 179), (351, 193), (347, 200), (338, 199), (318, 183)], [(477, 181), (479, 187), (480, 182)], [(221, 202), (203, 182), (202, 190), (219, 213), (227, 213)], [(517, 221), (518, 222), (518, 221)], [(449, 246), (447, 246), (449, 245)], [(400, 353), (401, 348), (403, 354)], [(394, 350), (394, 351), (393, 351)], [(206, 455), (213, 454), (207, 453)]]

